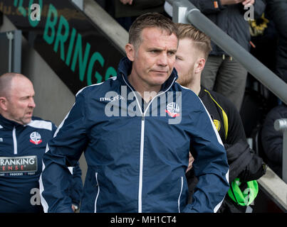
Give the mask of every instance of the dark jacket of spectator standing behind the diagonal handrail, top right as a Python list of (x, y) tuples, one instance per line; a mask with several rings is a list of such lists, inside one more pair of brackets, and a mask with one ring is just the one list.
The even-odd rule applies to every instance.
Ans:
[[(249, 23), (244, 19), (244, 14), (249, 9), (244, 10), (244, 6), (240, 4), (221, 6), (218, 0), (218, 8), (214, 8), (214, 1), (211, 0), (189, 0), (196, 6), (205, 16), (219, 26), (225, 33), (233, 38), (244, 49), (250, 50), (250, 33)], [(259, 18), (265, 10), (265, 0), (256, 0), (254, 4), (254, 18)], [(247, 13), (248, 14), (248, 13)], [(211, 55), (225, 55), (224, 50), (221, 50), (212, 42)]]

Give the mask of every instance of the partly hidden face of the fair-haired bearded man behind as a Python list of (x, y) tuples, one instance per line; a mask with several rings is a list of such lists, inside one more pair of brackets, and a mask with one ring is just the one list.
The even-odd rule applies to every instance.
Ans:
[(179, 40), (174, 67), (179, 77), (177, 82), (184, 87), (188, 87), (192, 83), (196, 60), (197, 51), (194, 49), (192, 40), (189, 38)]

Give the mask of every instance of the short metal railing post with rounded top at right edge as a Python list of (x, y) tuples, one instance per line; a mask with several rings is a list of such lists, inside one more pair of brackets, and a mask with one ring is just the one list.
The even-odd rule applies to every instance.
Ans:
[(287, 184), (287, 118), (277, 119), (274, 128), (283, 132), (282, 179)]

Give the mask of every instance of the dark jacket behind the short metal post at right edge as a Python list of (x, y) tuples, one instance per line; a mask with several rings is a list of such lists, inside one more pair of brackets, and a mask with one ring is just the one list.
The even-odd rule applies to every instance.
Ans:
[(287, 118), (287, 106), (276, 106), (266, 116), (261, 129), (261, 143), (267, 157), (267, 164), (282, 177), (283, 133), (276, 131), (274, 122), (280, 118)]

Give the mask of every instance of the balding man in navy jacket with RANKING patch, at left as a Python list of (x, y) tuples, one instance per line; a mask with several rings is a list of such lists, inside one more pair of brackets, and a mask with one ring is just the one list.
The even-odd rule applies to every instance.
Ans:
[[(9, 90), (4, 91), (5, 87)], [(43, 212), (38, 179), (46, 144), (53, 138), (56, 126), (32, 117), (34, 107), (33, 85), (26, 77), (1, 76), (0, 213)], [(83, 190), (79, 165), (72, 171), (69, 197), (71, 205), (79, 206)]]

